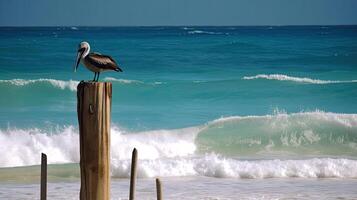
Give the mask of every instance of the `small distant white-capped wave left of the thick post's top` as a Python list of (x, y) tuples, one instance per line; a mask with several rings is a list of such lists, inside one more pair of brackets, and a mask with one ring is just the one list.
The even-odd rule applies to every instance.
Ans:
[(35, 84), (35, 83), (49, 83), (53, 87), (56, 87), (56, 88), (59, 88), (62, 90), (69, 89), (71, 91), (76, 91), (79, 81), (75, 81), (75, 80), (63, 81), (63, 80), (56, 80), (56, 79), (40, 78), (40, 79), (0, 80), (0, 83), (7, 83), (7, 84), (15, 85), (15, 86), (26, 86), (26, 85)]

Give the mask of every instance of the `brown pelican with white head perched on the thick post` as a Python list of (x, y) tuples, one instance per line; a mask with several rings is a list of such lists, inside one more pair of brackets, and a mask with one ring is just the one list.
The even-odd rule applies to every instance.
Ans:
[(88, 42), (81, 42), (78, 45), (76, 65), (74, 66), (74, 72), (77, 71), (80, 62), (84, 64), (90, 71), (94, 72), (93, 81), (98, 81), (100, 72), (113, 70), (122, 72), (115, 60), (107, 55), (99, 53), (89, 53), (90, 46)]

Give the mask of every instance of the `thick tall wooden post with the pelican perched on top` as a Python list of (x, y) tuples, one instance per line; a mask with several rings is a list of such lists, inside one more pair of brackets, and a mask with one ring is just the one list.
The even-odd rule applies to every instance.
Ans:
[(111, 99), (111, 83), (82, 81), (77, 86), (81, 200), (110, 199)]

